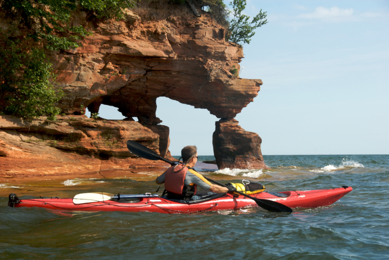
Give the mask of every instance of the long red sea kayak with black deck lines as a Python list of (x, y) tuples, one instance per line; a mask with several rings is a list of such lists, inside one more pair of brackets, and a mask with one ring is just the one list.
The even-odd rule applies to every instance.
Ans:
[[(328, 206), (353, 190), (352, 187), (312, 191), (261, 192), (251, 195), (259, 199), (277, 201), (290, 208), (317, 208)], [(14, 194), (11, 194), (14, 195)], [(257, 207), (252, 199), (242, 195), (213, 195), (209, 199), (196, 202), (177, 201), (158, 196), (132, 195), (132, 199), (112, 199), (83, 204), (73, 203), (73, 198), (14, 199), (8, 202), (11, 207), (40, 207), (52, 210), (70, 211), (126, 211), (159, 213), (197, 213), (203, 211), (237, 210), (245, 207)], [(126, 195), (122, 195), (126, 196)], [(128, 195), (127, 195), (128, 196)]]

